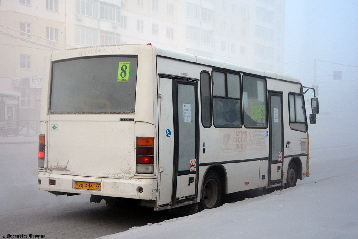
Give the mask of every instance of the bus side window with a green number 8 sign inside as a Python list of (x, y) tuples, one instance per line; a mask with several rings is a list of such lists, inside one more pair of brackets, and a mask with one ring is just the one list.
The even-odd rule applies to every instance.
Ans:
[(267, 127), (266, 81), (263, 78), (242, 77), (243, 114), (245, 128)]

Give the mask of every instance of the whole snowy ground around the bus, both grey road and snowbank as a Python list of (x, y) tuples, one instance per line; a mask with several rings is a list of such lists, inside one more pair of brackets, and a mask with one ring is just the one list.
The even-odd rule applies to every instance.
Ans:
[[(182, 218), (144, 207), (89, 203), (88, 195), (39, 191), (37, 150), (37, 143), (0, 144), (0, 236), (358, 238), (357, 146), (311, 150), (311, 176), (295, 188), (258, 197), (258, 190), (234, 193), (224, 197), (234, 203)], [(235, 202), (245, 197), (254, 198)]]

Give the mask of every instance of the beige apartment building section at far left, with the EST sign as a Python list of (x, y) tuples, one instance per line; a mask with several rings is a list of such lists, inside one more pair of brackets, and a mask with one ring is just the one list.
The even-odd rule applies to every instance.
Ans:
[(64, 11), (58, 0), (0, 1), (0, 121), (38, 120), (44, 56), (65, 49)]

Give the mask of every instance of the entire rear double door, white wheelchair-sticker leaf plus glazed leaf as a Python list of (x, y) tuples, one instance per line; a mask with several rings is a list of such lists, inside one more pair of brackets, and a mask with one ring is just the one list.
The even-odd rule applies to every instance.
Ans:
[(197, 200), (197, 82), (160, 78), (159, 206)]

